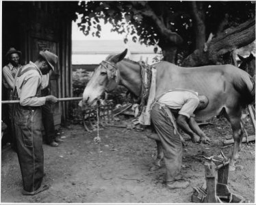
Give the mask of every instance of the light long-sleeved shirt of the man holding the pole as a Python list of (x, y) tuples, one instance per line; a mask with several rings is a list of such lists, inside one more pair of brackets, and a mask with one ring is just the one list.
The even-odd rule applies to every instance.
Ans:
[(21, 72), (26, 68), (36, 68), (36, 70), (29, 70), (22, 74), (20, 77), (15, 77), (14, 85), (18, 93), (18, 98), (22, 106), (42, 106), (45, 104), (45, 97), (36, 97), (38, 87), (42, 83), (42, 72), (33, 62), (21, 68)]

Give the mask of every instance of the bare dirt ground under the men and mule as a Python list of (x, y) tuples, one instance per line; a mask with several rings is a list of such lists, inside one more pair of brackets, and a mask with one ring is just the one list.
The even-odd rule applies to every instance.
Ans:
[[(133, 118), (119, 115), (115, 124), (129, 124)], [(22, 180), (16, 153), (1, 154), (1, 202), (17, 203), (191, 203), (192, 187), (205, 182), (203, 156), (219, 155), (222, 141), (231, 137), (225, 119), (213, 119), (201, 126), (212, 139), (210, 145), (187, 141), (183, 148), (182, 174), (190, 181), (186, 189), (166, 189), (165, 168), (149, 171), (156, 155), (155, 141), (144, 131), (107, 127), (99, 131), (101, 143), (94, 143), (97, 132), (84, 131), (81, 124), (60, 129), (64, 142), (57, 148), (43, 145), (44, 183), (49, 190), (34, 196), (21, 195)], [(252, 134), (251, 127), (246, 128)], [(233, 146), (222, 148), (230, 156)], [(243, 143), (235, 172), (229, 172), (229, 189), (255, 202), (255, 142)]]

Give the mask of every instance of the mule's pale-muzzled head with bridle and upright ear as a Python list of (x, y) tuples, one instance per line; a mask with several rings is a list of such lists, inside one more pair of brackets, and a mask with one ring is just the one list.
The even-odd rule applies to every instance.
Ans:
[(104, 92), (111, 92), (120, 81), (120, 71), (116, 65), (123, 60), (127, 54), (127, 49), (117, 55), (109, 55), (94, 70), (92, 78), (86, 85), (83, 94), (83, 101), (88, 105), (96, 105)]

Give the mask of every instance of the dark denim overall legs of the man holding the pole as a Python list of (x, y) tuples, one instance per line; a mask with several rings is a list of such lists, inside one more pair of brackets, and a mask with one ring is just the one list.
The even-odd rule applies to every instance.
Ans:
[(14, 128), (23, 189), (33, 193), (40, 188), (44, 174), (41, 107), (14, 106)]

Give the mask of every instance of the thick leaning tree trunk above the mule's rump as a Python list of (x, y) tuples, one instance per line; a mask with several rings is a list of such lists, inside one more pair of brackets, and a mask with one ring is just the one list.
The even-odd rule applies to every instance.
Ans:
[(223, 55), (246, 46), (255, 40), (255, 18), (240, 26), (230, 28), (213, 38), (207, 49), (197, 49), (183, 60), (182, 66), (194, 67), (209, 64), (223, 64)]

